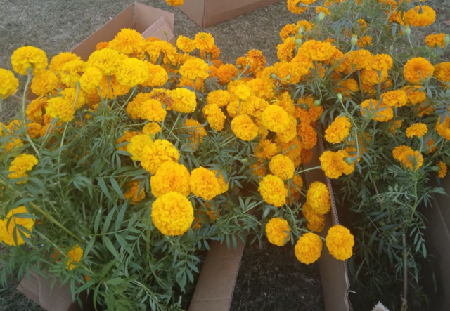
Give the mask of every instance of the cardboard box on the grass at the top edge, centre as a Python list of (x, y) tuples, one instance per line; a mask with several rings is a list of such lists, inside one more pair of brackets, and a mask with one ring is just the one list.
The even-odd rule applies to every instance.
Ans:
[(184, 0), (179, 9), (207, 28), (282, 0)]

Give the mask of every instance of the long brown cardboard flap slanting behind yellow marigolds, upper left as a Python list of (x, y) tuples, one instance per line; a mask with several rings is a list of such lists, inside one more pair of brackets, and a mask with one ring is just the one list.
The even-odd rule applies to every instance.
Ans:
[(72, 53), (77, 54), (82, 60), (87, 60), (92, 52), (96, 51), (98, 42), (113, 40), (122, 28), (134, 28), (133, 5), (130, 4), (124, 11), (98, 29), (94, 34), (78, 44)]

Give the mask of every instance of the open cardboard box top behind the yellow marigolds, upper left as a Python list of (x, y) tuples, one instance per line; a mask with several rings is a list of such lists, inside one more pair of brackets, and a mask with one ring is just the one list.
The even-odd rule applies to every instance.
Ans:
[[(122, 28), (135, 29), (141, 33), (146, 39), (148, 37), (156, 37), (161, 40), (168, 40), (174, 44), (174, 20), (173, 13), (162, 11), (159, 8), (152, 8), (144, 4), (134, 3), (130, 4), (124, 11), (117, 14), (115, 18), (106, 23), (105, 26), (98, 29), (94, 34), (91, 34), (87, 39), (78, 44), (72, 52), (79, 55), (82, 60), (87, 60), (92, 52), (96, 51), (96, 45), (99, 42), (113, 40), (115, 35), (120, 32)], [(149, 28), (158, 22), (158, 27)], [(164, 34), (164, 30), (167, 33)]]

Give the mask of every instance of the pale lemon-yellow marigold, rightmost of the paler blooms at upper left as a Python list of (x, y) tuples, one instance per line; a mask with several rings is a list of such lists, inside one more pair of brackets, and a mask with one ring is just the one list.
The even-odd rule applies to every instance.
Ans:
[(130, 88), (148, 80), (146, 63), (137, 58), (127, 58), (120, 62), (115, 72), (117, 82)]

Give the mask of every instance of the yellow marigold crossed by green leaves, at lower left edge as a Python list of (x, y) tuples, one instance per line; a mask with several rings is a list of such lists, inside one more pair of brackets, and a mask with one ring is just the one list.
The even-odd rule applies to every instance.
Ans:
[[(0, 237), (1, 240), (9, 246), (19, 246), (25, 244), (22, 236), (30, 237), (30, 234), (20, 230), (17, 225), (25, 227), (30, 232), (33, 232), (34, 219), (32, 218), (20, 218), (15, 216), (16, 214), (30, 214), (25, 206), (18, 206), (12, 209), (6, 215), (6, 219), (0, 220)], [(9, 225), (8, 225), (9, 222)], [(14, 235), (17, 243), (14, 241)]]

